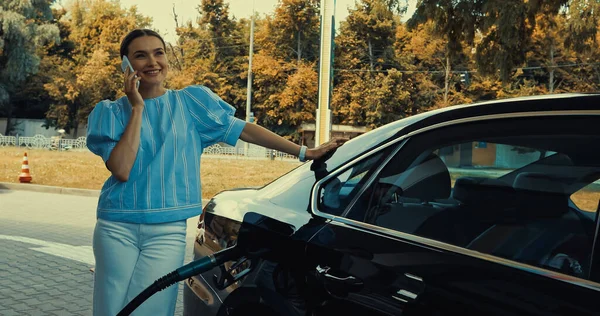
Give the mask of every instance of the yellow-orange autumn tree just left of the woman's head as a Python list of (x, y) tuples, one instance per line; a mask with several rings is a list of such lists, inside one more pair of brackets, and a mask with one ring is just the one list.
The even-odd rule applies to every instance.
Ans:
[(60, 23), (73, 48), (48, 56), (51, 81), (44, 88), (54, 99), (47, 113), (51, 125), (77, 135), (79, 123), (85, 123), (99, 101), (124, 95), (121, 39), (134, 28), (148, 27), (151, 20), (135, 7), (126, 10), (106, 0), (76, 0), (67, 11)]

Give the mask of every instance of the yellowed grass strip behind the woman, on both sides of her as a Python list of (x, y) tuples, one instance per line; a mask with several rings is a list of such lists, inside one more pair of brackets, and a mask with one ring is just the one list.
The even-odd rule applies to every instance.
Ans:
[[(102, 159), (88, 151), (56, 152), (41, 149), (0, 148), (0, 182), (19, 182), (23, 153), (27, 152), (33, 184), (100, 190), (110, 176)], [(202, 197), (211, 198), (230, 188), (261, 186), (298, 166), (270, 160), (204, 158)]]

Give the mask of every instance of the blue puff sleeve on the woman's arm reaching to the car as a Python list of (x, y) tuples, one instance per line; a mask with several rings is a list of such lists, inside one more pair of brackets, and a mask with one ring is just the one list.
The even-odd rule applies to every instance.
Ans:
[(235, 108), (204, 86), (189, 86), (183, 92), (202, 147), (218, 142), (235, 146), (246, 126), (245, 121), (234, 116)]

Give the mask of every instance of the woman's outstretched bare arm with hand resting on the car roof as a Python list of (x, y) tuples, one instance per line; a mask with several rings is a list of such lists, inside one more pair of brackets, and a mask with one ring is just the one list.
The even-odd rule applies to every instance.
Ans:
[[(298, 156), (300, 154), (301, 146), (256, 124), (246, 123), (246, 126), (240, 135), (240, 139), (248, 143), (275, 149), (290, 155)], [(306, 150), (306, 160), (318, 159), (327, 152), (341, 146), (346, 141), (347, 139), (334, 137), (319, 147), (308, 149)]]

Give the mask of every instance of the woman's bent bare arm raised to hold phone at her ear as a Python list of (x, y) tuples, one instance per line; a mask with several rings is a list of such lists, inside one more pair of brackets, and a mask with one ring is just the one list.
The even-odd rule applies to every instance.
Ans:
[(135, 163), (137, 152), (140, 147), (140, 135), (142, 129), (142, 114), (144, 113), (144, 99), (137, 91), (135, 85), (140, 78), (136, 77), (137, 71), (125, 74), (125, 93), (131, 103), (131, 117), (121, 135), (121, 139), (106, 161), (106, 167), (119, 181), (125, 182), (129, 179), (131, 168)]

